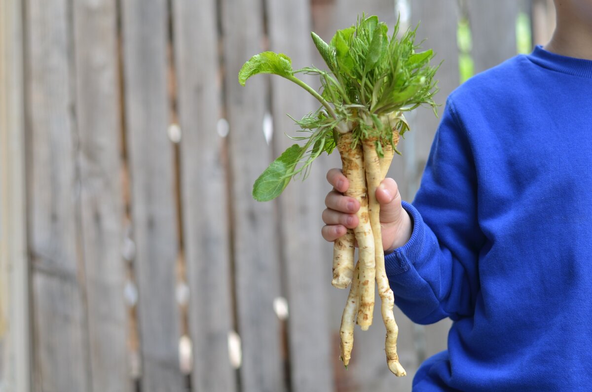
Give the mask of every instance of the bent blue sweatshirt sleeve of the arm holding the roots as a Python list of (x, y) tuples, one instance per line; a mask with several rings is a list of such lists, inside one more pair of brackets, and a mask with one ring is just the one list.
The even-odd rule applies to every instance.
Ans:
[(436, 131), (420, 189), (403, 202), (413, 222), (406, 245), (385, 255), (395, 304), (416, 323), (474, 313), (478, 256), (485, 244), (477, 219), (471, 143), (452, 100)]

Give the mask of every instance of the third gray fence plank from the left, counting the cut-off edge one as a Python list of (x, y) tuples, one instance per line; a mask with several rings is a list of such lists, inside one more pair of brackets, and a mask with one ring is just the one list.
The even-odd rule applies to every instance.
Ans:
[(114, 0), (73, 3), (82, 247), (93, 391), (130, 391)]

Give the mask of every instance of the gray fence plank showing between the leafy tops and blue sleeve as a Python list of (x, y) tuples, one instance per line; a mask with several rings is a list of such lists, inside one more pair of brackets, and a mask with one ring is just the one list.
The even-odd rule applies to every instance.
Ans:
[[(456, 46), (456, 28), (458, 25), (458, 7), (455, 0), (433, 2), (429, 0), (414, 0), (411, 2), (411, 26), (419, 21), (421, 25), (417, 31), (420, 40), (427, 38), (424, 47), (432, 48), (436, 52), (434, 63), (444, 60), (437, 72), (440, 92), (436, 94), (435, 100), (442, 104), (439, 113), (442, 113), (446, 97), (458, 86), (458, 47)], [(408, 133), (407, 139), (413, 138), (414, 167), (408, 168), (408, 181), (413, 184), (408, 197), (413, 198), (426, 165), (427, 155), (436, 133), (439, 118), (436, 118), (429, 108), (419, 108), (413, 121), (413, 131)], [(404, 147), (403, 147), (404, 148)], [(403, 150), (406, 154), (407, 150)], [(439, 323), (426, 326), (425, 348), (420, 353), (423, 356), (430, 356), (436, 352), (446, 349), (446, 339), (450, 329), (450, 320), (442, 320)], [(423, 327), (416, 328), (421, 335)], [(422, 343), (423, 344), (423, 343)]]

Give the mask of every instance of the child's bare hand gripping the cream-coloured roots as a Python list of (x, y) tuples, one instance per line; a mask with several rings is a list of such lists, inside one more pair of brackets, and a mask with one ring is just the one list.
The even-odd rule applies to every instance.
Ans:
[[(333, 190), (325, 198), (327, 208), (323, 211), (323, 222), (326, 226), (323, 226), (321, 234), (325, 240), (333, 242), (346, 233), (346, 227), (353, 229), (358, 226), (356, 211), (360, 204), (354, 198), (343, 195), (349, 182), (340, 169), (330, 169), (327, 181), (333, 185)], [(394, 179), (382, 180), (376, 198), (380, 203), (382, 247), (387, 253), (405, 245), (411, 238), (411, 219), (401, 207), (401, 195)]]

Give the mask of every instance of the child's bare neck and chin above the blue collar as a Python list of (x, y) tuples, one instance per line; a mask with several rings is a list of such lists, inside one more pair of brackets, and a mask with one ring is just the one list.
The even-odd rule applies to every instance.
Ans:
[(557, 27), (545, 49), (562, 56), (592, 60), (592, 22), (574, 9), (557, 8)]

